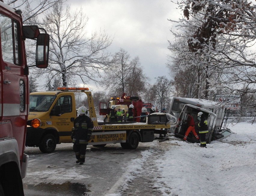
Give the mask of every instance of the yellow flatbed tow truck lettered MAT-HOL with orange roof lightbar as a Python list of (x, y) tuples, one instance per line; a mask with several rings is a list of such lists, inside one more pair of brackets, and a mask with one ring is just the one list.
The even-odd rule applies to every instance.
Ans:
[(88, 97), (88, 115), (93, 121), (92, 138), (88, 145), (104, 147), (106, 144), (120, 143), (123, 148), (135, 149), (139, 142), (160, 141), (168, 138), (155, 137), (166, 134), (171, 126), (166, 123), (165, 114), (148, 116), (147, 123), (138, 122), (98, 122), (89, 88), (58, 88), (58, 91), (30, 93), (29, 119), (39, 118), (41, 127), (27, 127), (26, 146), (39, 147), (42, 153), (51, 153), (56, 144), (72, 142), (70, 136), (73, 122), (77, 117), (75, 93), (85, 93)]

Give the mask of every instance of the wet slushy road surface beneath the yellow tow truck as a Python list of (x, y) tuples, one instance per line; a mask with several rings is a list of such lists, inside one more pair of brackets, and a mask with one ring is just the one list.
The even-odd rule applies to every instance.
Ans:
[[(138, 165), (133, 160), (139, 160), (139, 165), (147, 162), (141, 169), (154, 165), (151, 159), (163, 153), (158, 141), (153, 143), (139, 143), (135, 150), (126, 150), (120, 144), (108, 144), (102, 149), (88, 146), (86, 152), (86, 164), (75, 163), (75, 155), (72, 144), (58, 144), (56, 150), (50, 154), (43, 154), (38, 148), (28, 147), (25, 153), (29, 155), (29, 166), (26, 177), (23, 179), (23, 187), (26, 196), (42, 195), (108, 195), (116, 191), (127, 176), (131, 179), (136, 176)], [(154, 148), (154, 150), (152, 150)], [(151, 155), (149, 157), (149, 155)], [(129, 170), (129, 167), (130, 170)], [(136, 167), (136, 171), (134, 170)], [(146, 174), (148, 173), (148, 174)], [(153, 179), (153, 174), (147, 171), (143, 174), (139, 186), (143, 183), (149, 185), (149, 177)], [(148, 175), (148, 176), (147, 176)], [(136, 183), (138, 180), (135, 180)], [(150, 183), (153, 186), (154, 182)], [(145, 186), (144, 186), (145, 187)], [(138, 189), (137, 188), (137, 189)], [(131, 191), (136, 187), (132, 187)], [(145, 187), (148, 189), (148, 187)], [(129, 194), (130, 189), (123, 187), (125, 194)], [(143, 190), (142, 190), (143, 191)], [(152, 188), (152, 193), (160, 193)]]

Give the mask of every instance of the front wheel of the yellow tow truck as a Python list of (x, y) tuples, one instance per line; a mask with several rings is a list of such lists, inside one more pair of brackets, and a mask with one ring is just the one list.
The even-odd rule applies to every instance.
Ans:
[(56, 139), (52, 134), (47, 134), (41, 140), (39, 149), (42, 153), (52, 153), (56, 148)]

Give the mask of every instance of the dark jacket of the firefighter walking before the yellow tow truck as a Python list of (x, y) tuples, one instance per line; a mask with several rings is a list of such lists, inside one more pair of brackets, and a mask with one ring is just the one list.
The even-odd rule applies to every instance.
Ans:
[(89, 116), (78, 116), (74, 120), (71, 138), (74, 144), (88, 144), (93, 132), (93, 121)]

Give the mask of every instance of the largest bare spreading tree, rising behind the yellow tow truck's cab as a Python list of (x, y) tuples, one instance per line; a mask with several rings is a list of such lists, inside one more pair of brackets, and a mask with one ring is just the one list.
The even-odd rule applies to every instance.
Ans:
[(49, 78), (61, 78), (64, 87), (77, 79), (84, 85), (88, 81), (97, 83), (101, 70), (108, 66), (106, 48), (112, 42), (105, 31), (94, 32), (87, 38), (88, 19), (83, 9), (72, 13), (70, 6), (65, 9), (62, 1), (44, 15), (44, 28), (50, 34), (49, 67), (44, 73)]

